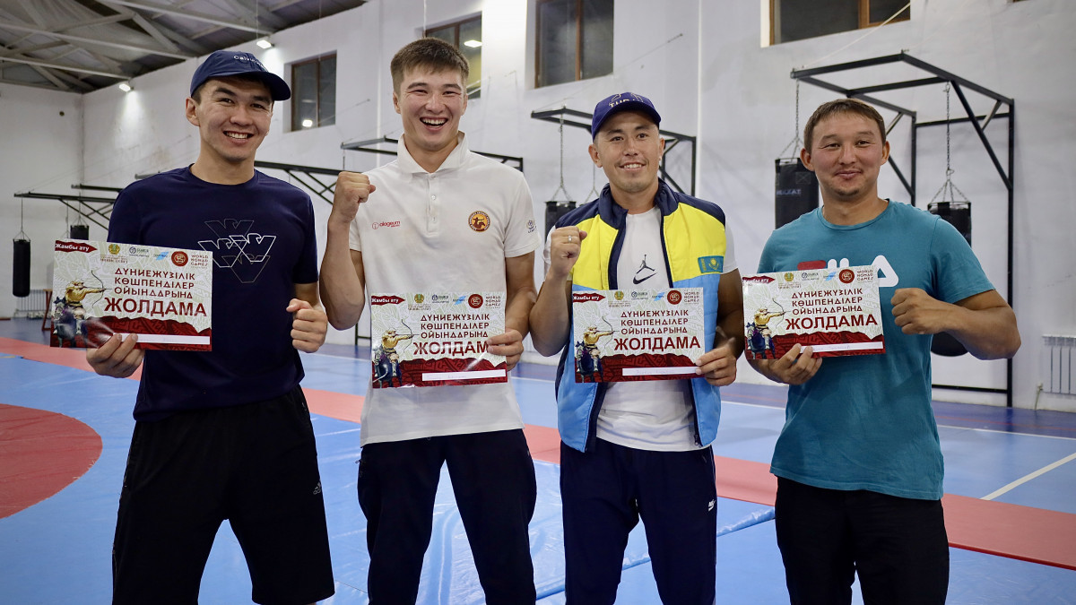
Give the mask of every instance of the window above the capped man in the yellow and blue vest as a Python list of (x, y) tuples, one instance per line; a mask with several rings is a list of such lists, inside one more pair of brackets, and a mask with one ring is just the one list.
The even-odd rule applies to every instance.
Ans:
[(538, 0), (535, 86), (612, 73), (613, 0)]

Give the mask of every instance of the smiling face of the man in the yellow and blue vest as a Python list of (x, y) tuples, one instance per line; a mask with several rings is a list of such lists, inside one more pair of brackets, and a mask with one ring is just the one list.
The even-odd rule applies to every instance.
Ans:
[(629, 206), (631, 199), (653, 205), (664, 150), (665, 140), (657, 125), (637, 111), (622, 111), (607, 118), (590, 147), (591, 159), (605, 171), (613, 199), (622, 206)]

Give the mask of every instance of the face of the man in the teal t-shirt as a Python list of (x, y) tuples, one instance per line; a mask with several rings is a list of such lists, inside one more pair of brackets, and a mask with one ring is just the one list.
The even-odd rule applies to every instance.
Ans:
[(889, 159), (889, 141), (873, 119), (853, 112), (835, 113), (818, 122), (810, 144), (801, 158), (818, 177), (824, 201), (878, 199), (878, 172)]

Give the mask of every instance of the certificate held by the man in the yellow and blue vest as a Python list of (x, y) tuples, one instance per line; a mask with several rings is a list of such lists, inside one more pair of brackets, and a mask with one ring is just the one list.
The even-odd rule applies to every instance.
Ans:
[(576, 382), (695, 378), (703, 289), (571, 293)]

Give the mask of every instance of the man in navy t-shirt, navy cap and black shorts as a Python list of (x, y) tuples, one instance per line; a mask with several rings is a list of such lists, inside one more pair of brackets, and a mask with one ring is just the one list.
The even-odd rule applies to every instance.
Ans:
[(253, 55), (218, 51), (195, 71), (188, 167), (116, 198), (109, 241), (213, 253), (213, 350), (143, 351), (113, 335), (86, 360), (126, 378), (142, 366), (113, 543), (113, 603), (196, 603), (227, 519), (256, 603), (332, 595), (328, 533), (299, 351), (327, 320), (317, 297), (310, 197), (254, 169), (287, 84)]

